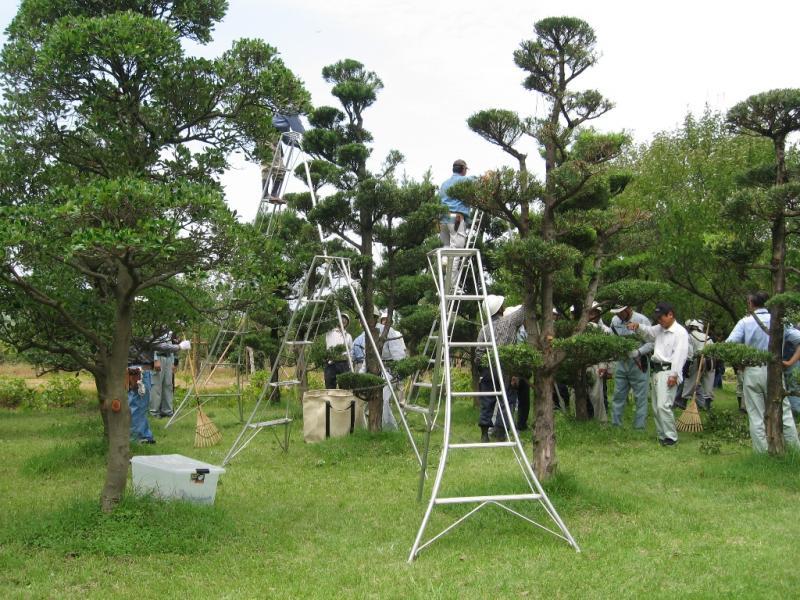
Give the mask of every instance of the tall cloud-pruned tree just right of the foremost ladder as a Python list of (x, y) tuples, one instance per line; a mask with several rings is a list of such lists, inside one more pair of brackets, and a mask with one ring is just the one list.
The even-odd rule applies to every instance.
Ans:
[[(584, 21), (555, 17), (534, 24), (536, 38), (523, 41), (514, 62), (527, 75), (523, 86), (545, 102), (542, 118), (520, 118), (511, 111), (481, 111), (468, 125), (481, 137), (514, 156), (517, 169), (502, 169), (472, 183), (450, 188), (460, 197), (515, 230), (501, 244), (497, 263), (507, 283), (520, 291), (528, 343), (541, 353), (534, 368), (534, 468), (540, 478), (557, 465), (553, 416), (553, 381), (563, 350), (553, 345), (553, 309), (574, 305), (582, 332), (588, 307), (601, 282), (601, 267), (613, 255), (614, 239), (643, 215), (613, 209), (611, 199), (629, 176), (610, 169), (628, 138), (600, 133), (588, 125), (612, 108), (595, 90), (573, 91), (575, 80), (597, 61), (596, 38)], [(544, 159), (545, 179), (528, 172), (527, 157), (516, 149), (531, 136)]]

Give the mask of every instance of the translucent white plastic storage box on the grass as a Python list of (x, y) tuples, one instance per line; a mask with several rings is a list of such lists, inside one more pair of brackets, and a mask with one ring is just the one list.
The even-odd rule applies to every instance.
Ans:
[(131, 466), (135, 493), (199, 504), (214, 504), (219, 476), (225, 472), (181, 454), (134, 456)]

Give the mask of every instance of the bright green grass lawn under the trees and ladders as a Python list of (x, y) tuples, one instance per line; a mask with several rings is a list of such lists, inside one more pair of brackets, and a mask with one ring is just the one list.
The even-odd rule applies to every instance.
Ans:
[[(656, 443), (652, 418), (643, 434), (558, 415), (560, 472), (545, 487), (582, 552), (486, 507), (412, 564), (425, 506), (401, 433), (308, 445), (296, 423), (283, 453), (267, 431), (228, 466), (215, 506), (129, 498), (104, 516), (97, 414), (2, 411), (0, 595), (796, 597), (800, 458), (754, 456), (736, 440), (734, 403), (719, 395), (714, 410), (727, 425), (681, 434), (674, 448)], [(219, 446), (194, 449), (191, 418), (168, 430), (155, 421), (158, 444), (134, 452), (221, 463), (237, 417), (208, 412), (224, 434)], [(469, 403), (457, 405), (454, 439), (477, 440), (476, 419)], [(523, 485), (510, 452), (462, 452), (451, 454), (444, 493)], [(465, 510), (437, 508), (429, 532)], [(527, 514), (547, 522), (538, 504)]]

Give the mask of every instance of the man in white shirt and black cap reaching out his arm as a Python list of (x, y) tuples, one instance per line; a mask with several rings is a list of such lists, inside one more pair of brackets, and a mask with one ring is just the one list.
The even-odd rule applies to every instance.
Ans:
[(650, 362), (653, 418), (658, 441), (662, 446), (674, 446), (678, 443), (678, 432), (672, 405), (678, 384), (683, 380), (683, 364), (689, 353), (689, 334), (675, 320), (675, 309), (670, 303), (659, 302), (654, 316), (657, 325), (631, 322), (628, 329), (655, 343)]

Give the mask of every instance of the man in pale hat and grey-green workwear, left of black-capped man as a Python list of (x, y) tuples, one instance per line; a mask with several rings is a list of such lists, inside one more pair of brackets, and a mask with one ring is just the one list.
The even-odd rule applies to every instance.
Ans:
[[(620, 305), (610, 311), (611, 333), (619, 336), (633, 335), (627, 327), (628, 323), (650, 325), (650, 319), (635, 312), (628, 305)], [(632, 350), (627, 357), (614, 365), (614, 396), (611, 399), (611, 424), (622, 425), (622, 413), (628, 400), (628, 391), (633, 392), (636, 401), (636, 414), (633, 418), (634, 429), (644, 429), (647, 424), (647, 388), (649, 356), (653, 352), (652, 342), (641, 344)]]

